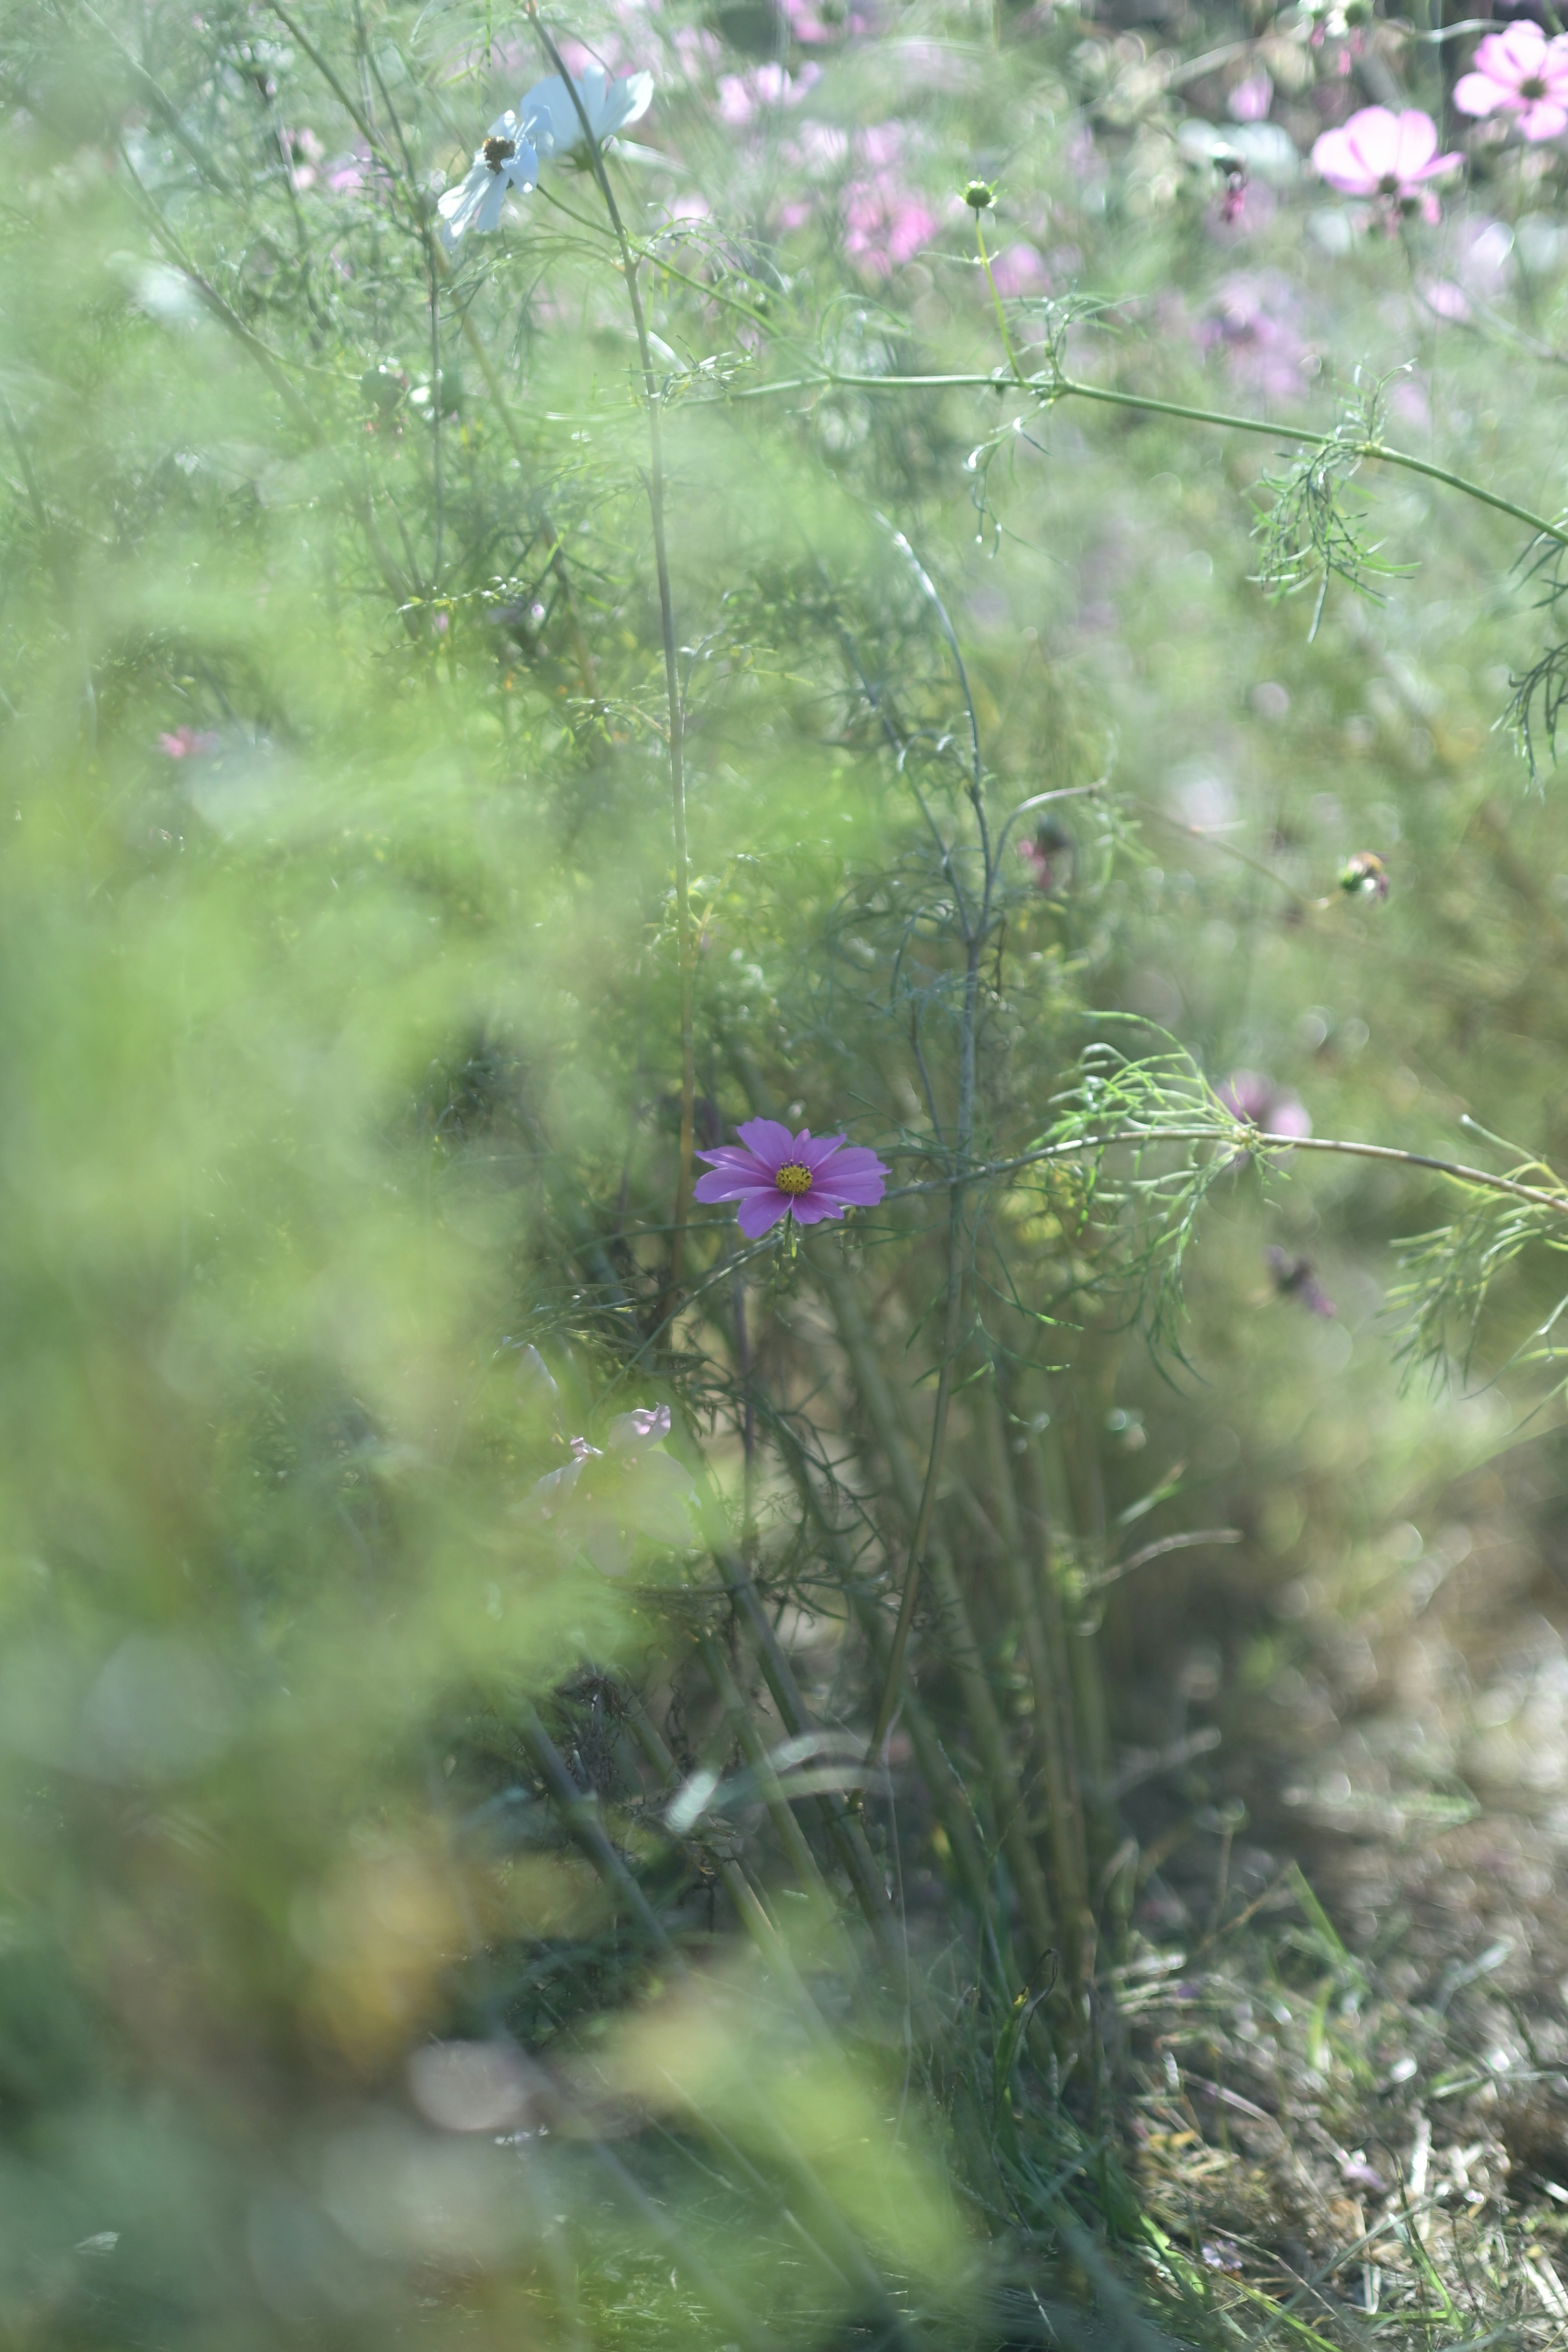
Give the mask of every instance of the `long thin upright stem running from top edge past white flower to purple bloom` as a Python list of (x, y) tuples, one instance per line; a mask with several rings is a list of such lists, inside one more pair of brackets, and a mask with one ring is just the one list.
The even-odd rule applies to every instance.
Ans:
[(604, 169), (604, 151), (595, 139), (592, 122), (588, 120), (588, 108), (583, 106), (583, 94), (574, 78), (567, 73), (562, 52), (550, 40), (548, 28), (538, 16), (536, 0), (529, 0), (529, 24), (538, 33), (541, 47), (555, 71), (559, 73), (571, 106), (583, 127), (583, 139), (588, 141), (588, 155), (592, 158), (592, 176), (599, 183), (599, 195), (604, 198), (604, 209), (609, 212), (609, 223), (616, 230), (616, 245), (621, 247), (621, 273), (625, 278), (625, 299), (632, 308), (632, 327), (637, 329), (637, 355), (642, 360), (642, 393), (649, 409), (649, 470), (644, 475), (644, 487), (649, 494), (649, 515), (654, 522), (654, 572), (658, 576), (658, 621), (663, 630), (665, 647), (665, 703), (670, 713), (670, 814), (675, 826), (675, 934), (679, 955), (679, 1049), (682, 1049), (682, 1122), (679, 1122), (679, 1169), (675, 1176), (675, 1216), (670, 1235), (670, 1279), (665, 1296), (672, 1301), (679, 1291), (682, 1265), (686, 1251), (686, 1218), (691, 1216), (691, 1162), (696, 1152), (696, 1030), (693, 1030), (693, 943), (691, 943), (691, 861), (686, 854), (686, 757), (684, 757), (684, 710), (679, 689), (679, 659), (675, 644), (675, 593), (670, 588), (670, 548), (665, 541), (665, 454), (663, 454), (663, 405), (658, 393), (658, 376), (654, 372), (654, 346), (649, 343), (649, 322), (642, 308), (642, 292), (637, 287), (637, 259), (632, 254), (630, 238), (625, 233), (625, 221), (621, 219), (621, 207), (616, 205), (616, 191), (609, 183), (609, 172)]

